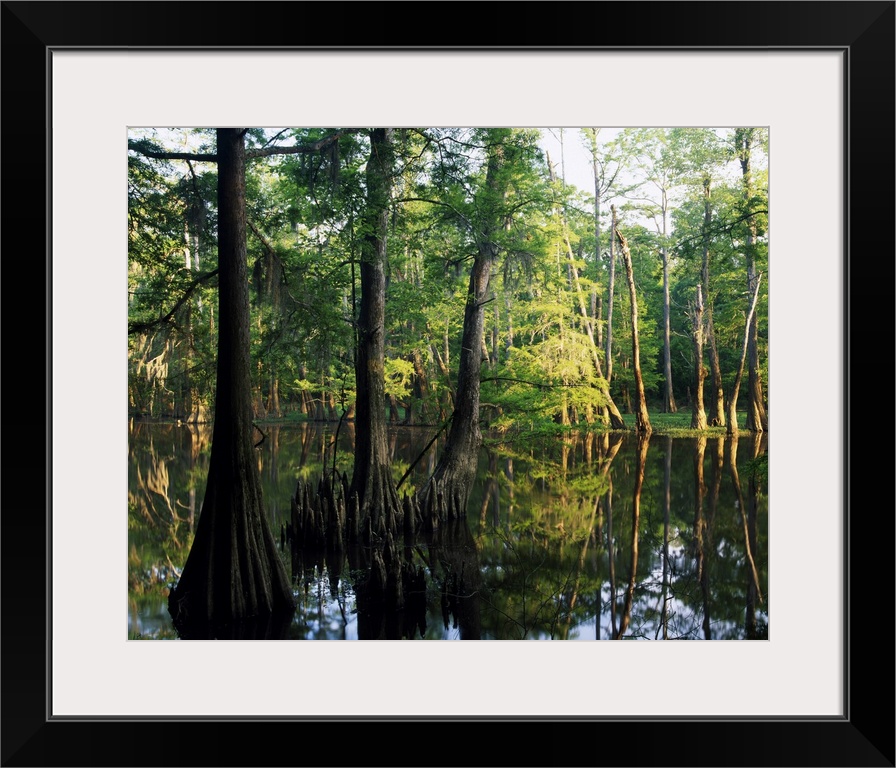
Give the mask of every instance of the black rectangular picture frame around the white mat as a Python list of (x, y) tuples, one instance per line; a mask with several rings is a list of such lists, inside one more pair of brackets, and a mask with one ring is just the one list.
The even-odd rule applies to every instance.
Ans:
[[(178, 22), (166, 24), (166, 10), (173, 11), (173, 6)], [(22, 478), (35, 474), (35, 455), (49, 455), (50, 415), (47, 411), (46, 421), (40, 421), (39, 393), (44, 382), (47, 398), (51, 392), (52, 340), (49, 306), (44, 312), (28, 304), (19, 309), (23, 305), (13, 299), (7, 307), (13, 307), (15, 314), (8, 313), (3, 339), (5, 413), (14, 418), (7, 418), (4, 440), (2, 765), (896, 765), (892, 449), (873, 443), (875, 447), (861, 450), (860, 460), (850, 456), (852, 430), (874, 429), (874, 420), (887, 411), (875, 404), (881, 382), (874, 385), (877, 390), (869, 386), (875, 374), (867, 366), (886, 365), (884, 370), (889, 371), (890, 362), (880, 358), (893, 349), (882, 348), (880, 340), (893, 329), (894, 8), (894, 2), (814, 0), (512, 6), (382, 2), (341, 3), (338, 8), (332, 3), (291, 2), (3, 2), (2, 221), (7, 245), (3, 266), (8, 293), (15, 292), (19, 301), (23, 288), (29, 297), (40, 295), (41, 286), (48, 286), (51, 279), (46, 205), (47, 103), (52, 88), (48, 63), (49, 53), (61, 47), (841, 49), (848, 83), (843, 213), (849, 263), (843, 329), (846, 402), (832, 404), (827, 416), (837, 418), (842, 411), (847, 436), (842, 446), (847, 516), (841, 585), (847, 609), (842, 718), (371, 716), (304, 723), (248, 718), (50, 719), (47, 549), (35, 544), (48, 540), (49, 515), (33, 493), (44, 486), (49, 502), (49, 477), (38, 471), (27, 485)], [(556, 17), (564, 11), (576, 21), (558, 27), (552, 39), (545, 14)], [(334, 13), (344, 18), (336, 23)], [(295, 23), (274, 21), (290, 14)], [(432, 35), (435, 41), (408, 45), (402, 40), (405, 27), (396, 24), (395, 14), (413, 18), (416, 39)], [(247, 23), (250, 18), (259, 21)], [(347, 45), (354, 39), (363, 39), (364, 45)], [(15, 319), (10, 321), (11, 317)], [(862, 342), (869, 329), (876, 342), (870, 359)], [(820, 366), (824, 366), (820, 378), (829, 376), (830, 361), (820, 361)], [(881, 377), (890, 383), (889, 376)], [(36, 413), (22, 419), (23, 405), (33, 406)], [(892, 442), (889, 428), (889, 422), (881, 425), (878, 443)], [(54, 489), (53, 503), (61, 503), (64, 496), (64, 489)], [(77, 510), (80, 502), (66, 503)], [(874, 546), (877, 542), (882, 544)], [(819, 617), (819, 625), (829, 627), (831, 622), (832, 617)], [(699, 684), (699, 668), (684, 674)], [(440, 685), (450, 685), (449, 671), (438, 671), (436, 679), (424, 684), (423, 693), (429, 695)], [(297, 692), (302, 695), (308, 692)], [(613, 692), (595, 691), (595, 696), (612, 697)], [(346, 735), (356, 731), (359, 735)]]

